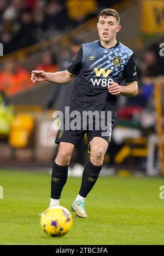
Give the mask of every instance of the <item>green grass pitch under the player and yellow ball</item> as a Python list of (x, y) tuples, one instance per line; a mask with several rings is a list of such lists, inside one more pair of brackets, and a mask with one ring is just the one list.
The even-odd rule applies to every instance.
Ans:
[[(68, 177), (61, 205), (70, 210), (81, 179)], [(0, 171), (0, 244), (164, 244), (164, 180), (148, 177), (99, 177), (85, 201), (87, 219), (73, 215), (63, 237), (49, 237), (39, 224), (49, 204), (50, 174)]]

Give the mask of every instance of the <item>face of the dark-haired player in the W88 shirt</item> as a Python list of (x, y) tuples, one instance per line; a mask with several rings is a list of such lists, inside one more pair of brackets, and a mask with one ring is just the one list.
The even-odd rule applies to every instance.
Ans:
[(106, 16), (106, 18), (100, 16), (97, 29), (99, 37), (102, 41), (108, 42), (115, 38), (116, 33), (120, 31), (121, 26), (114, 16)]

